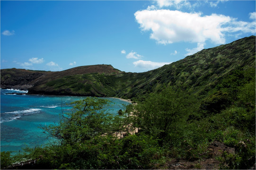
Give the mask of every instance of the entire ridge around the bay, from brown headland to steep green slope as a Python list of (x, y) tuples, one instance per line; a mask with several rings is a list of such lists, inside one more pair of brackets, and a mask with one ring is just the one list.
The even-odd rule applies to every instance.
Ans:
[[(235, 69), (255, 69), (255, 43), (255, 36), (246, 37), (202, 50), (185, 59), (144, 73), (125, 73), (110, 65), (96, 65), (60, 72), (22, 70), (23, 73), (17, 80), (16, 76), (10, 74), (16, 69), (5, 69), (1, 70), (1, 88), (20, 84), (29, 85), (29, 93), (35, 94), (131, 99), (161, 91), (164, 86), (172, 85), (189, 93), (202, 95)], [(24, 80), (33, 74), (34, 78)]]

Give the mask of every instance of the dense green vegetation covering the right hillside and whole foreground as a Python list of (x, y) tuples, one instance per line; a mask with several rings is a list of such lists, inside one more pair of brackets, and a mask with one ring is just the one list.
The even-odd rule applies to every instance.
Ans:
[[(255, 164), (255, 37), (203, 50), (146, 73), (72, 77), (83, 76), (94, 85), (105, 82), (99, 84), (101, 93), (134, 97), (136, 104), (111, 115), (104, 109), (106, 100), (74, 102), (72, 112), (62, 113), (58, 124), (42, 127), (55, 143), (27, 148), (16, 156), (2, 152), (1, 168), (24, 159), (35, 160), (21, 167), (25, 169), (171, 169), (172, 160), (206, 159), (218, 160), (221, 169)], [(46, 84), (62, 88), (72, 77)], [(124, 77), (128, 83), (121, 81)], [(212, 154), (209, 145), (214, 141), (234, 152)], [(202, 167), (198, 163), (192, 168)]]

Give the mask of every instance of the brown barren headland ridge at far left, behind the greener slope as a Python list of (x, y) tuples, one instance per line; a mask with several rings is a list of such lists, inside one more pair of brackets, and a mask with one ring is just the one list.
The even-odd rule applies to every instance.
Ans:
[(47, 83), (49, 80), (58, 79), (63, 76), (74, 76), (91, 73), (115, 74), (122, 71), (111, 65), (91, 65), (71, 68), (64, 71), (35, 71), (26, 69), (1, 69), (1, 88), (13, 88), (28, 90), (36, 85)]

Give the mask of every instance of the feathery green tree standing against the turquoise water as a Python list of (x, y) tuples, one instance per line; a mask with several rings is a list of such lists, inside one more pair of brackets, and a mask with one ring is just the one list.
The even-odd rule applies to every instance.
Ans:
[(111, 134), (112, 115), (106, 111), (108, 102), (96, 97), (72, 102), (72, 111), (62, 113), (58, 124), (42, 127), (44, 133), (61, 144), (81, 143), (95, 136)]

